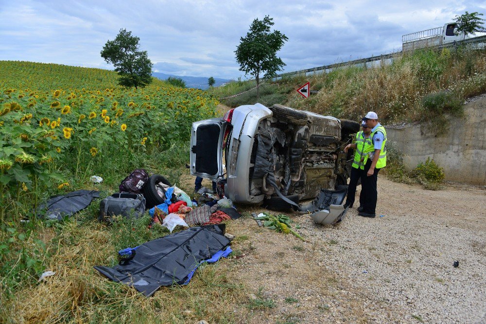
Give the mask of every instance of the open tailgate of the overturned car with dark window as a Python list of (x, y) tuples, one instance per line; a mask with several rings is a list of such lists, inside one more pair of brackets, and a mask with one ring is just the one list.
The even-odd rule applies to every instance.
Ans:
[(216, 181), (223, 177), (223, 140), (227, 123), (222, 118), (192, 123), (191, 174)]

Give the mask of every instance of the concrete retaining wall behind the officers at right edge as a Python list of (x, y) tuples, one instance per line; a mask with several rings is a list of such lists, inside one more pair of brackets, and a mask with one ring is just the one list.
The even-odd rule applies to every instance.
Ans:
[(431, 157), (446, 180), (486, 185), (486, 97), (467, 103), (464, 119), (452, 118), (446, 135), (424, 133), (420, 125), (386, 128), (388, 141), (403, 153), (412, 170)]

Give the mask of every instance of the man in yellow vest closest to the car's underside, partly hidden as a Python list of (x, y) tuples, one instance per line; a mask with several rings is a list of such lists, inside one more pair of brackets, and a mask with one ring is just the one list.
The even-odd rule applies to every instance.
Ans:
[[(349, 186), (347, 187), (347, 198), (345, 207), (352, 207), (354, 204), (354, 199), (356, 195), (356, 186), (358, 185), (358, 179), (361, 178), (361, 173), (364, 170), (364, 153), (365, 146), (371, 145), (371, 138), (369, 137), (371, 133), (371, 129), (368, 128), (366, 125), (366, 121), (364, 119), (361, 123), (362, 130), (356, 134), (356, 143), (348, 144), (344, 148), (344, 152), (347, 152), (349, 149), (354, 149), (354, 160), (351, 168), (351, 174), (349, 178)], [(361, 190), (360, 194), (360, 206), (358, 207), (358, 211), (363, 211), (364, 205), (364, 192)]]

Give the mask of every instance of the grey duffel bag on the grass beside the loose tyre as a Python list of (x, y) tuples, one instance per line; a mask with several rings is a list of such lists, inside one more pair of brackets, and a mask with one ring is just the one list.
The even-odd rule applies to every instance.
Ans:
[(114, 193), (100, 202), (98, 221), (113, 222), (113, 216), (139, 218), (145, 212), (145, 198), (141, 194)]

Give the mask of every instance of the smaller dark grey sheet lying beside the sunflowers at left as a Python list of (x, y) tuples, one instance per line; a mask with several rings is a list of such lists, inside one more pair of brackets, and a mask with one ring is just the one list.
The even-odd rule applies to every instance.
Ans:
[(96, 190), (76, 190), (65, 195), (53, 196), (37, 208), (37, 216), (61, 220), (64, 216), (72, 216), (85, 209), (93, 199), (99, 197), (100, 192)]

